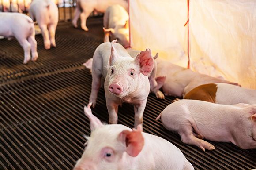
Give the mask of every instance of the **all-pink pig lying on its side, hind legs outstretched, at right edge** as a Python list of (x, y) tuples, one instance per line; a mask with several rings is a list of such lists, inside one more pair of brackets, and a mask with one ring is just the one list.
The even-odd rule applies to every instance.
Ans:
[(256, 105), (220, 105), (200, 100), (179, 100), (157, 117), (168, 130), (178, 132), (181, 141), (199, 148), (215, 147), (202, 138), (232, 142), (243, 149), (256, 148)]

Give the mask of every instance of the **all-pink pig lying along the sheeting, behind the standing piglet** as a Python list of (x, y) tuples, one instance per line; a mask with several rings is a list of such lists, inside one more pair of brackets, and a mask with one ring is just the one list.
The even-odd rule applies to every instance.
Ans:
[[(128, 49), (128, 53), (134, 57), (138, 54), (138, 51)], [(162, 87), (165, 95), (175, 96), (182, 98), (193, 88), (207, 83), (229, 83), (233, 85), (239, 85), (238, 83), (232, 83), (227, 80), (218, 79), (215, 77), (193, 72), (190, 69), (180, 67), (172, 64), (170, 61), (162, 58), (157, 58), (154, 62), (157, 63), (156, 80), (159, 84), (158, 87)], [(166, 79), (163, 78), (166, 76)], [(157, 94), (157, 98), (164, 98), (164, 94), (155, 88), (154, 93)]]

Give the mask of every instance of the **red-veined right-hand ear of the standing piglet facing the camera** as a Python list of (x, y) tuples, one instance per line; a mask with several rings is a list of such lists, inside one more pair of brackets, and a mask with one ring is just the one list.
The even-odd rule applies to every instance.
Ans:
[(147, 76), (154, 67), (154, 60), (151, 55), (151, 50), (146, 49), (146, 51), (141, 51), (140, 54), (134, 58), (136, 64), (140, 66), (140, 72)]

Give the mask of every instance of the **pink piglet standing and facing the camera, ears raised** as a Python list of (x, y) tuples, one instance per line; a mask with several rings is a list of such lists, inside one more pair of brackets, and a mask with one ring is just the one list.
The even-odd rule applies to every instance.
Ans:
[(149, 49), (132, 58), (124, 47), (116, 42), (117, 40), (102, 43), (94, 52), (90, 102), (94, 107), (103, 76), (109, 123), (117, 123), (118, 105), (126, 102), (134, 105), (134, 126), (137, 127), (143, 122), (143, 112), (150, 91), (148, 75), (153, 69), (154, 59)]

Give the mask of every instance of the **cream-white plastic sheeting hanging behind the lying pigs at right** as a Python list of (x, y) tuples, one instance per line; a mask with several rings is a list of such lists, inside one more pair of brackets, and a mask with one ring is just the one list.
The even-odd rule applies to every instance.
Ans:
[[(130, 0), (131, 47), (188, 65), (187, 0)], [(256, 89), (256, 1), (190, 0), (193, 71)]]

